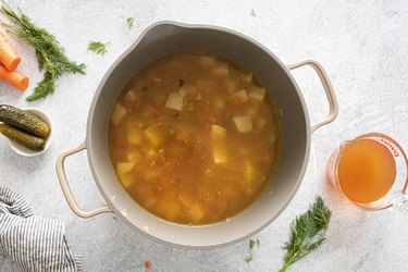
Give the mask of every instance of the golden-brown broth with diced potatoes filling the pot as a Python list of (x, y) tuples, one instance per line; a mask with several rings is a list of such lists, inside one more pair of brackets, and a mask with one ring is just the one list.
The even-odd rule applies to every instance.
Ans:
[(210, 224), (247, 208), (276, 168), (277, 108), (250, 71), (218, 55), (180, 52), (138, 72), (119, 96), (109, 150), (143, 208)]

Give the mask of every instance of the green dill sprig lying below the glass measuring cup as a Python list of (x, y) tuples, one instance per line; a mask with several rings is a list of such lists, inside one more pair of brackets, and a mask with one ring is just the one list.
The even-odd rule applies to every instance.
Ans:
[(331, 218), (331, 211), (318, 196), (309, 210), (297, 217), (290, 224), (290, 239), (283, 249), (287, 250), (284, 257), (284, 265), (280, 272), (284, 272), (295, 261), (318, 248), (324, 240)]

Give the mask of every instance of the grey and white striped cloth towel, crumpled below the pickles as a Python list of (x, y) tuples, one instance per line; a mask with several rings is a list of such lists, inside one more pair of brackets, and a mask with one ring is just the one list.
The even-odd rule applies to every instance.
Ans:
[(27, 202), (0, 186), (0, 247), (24, 271), (82, 271), (70, 249), (64, 224), (33, 215)]

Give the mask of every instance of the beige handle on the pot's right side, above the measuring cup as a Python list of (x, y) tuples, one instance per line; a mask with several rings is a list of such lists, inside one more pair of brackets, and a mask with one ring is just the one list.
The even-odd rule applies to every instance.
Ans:
[(324, 88), (324, 91), (325, 91), (325, 95), (326, 95), (326, 98), (327, 98), (327, 101), (329, 101), (329, 107), (330, 107), (329, 115), (325, 118), (325, 120), (323, 120), (323, 121), (321, 121), (321, 122), (311, 126), (311, 133), (313, 133), (319, 127), (333, 122), (337, 118), (338, 103), (337, 103), (337, 98), (336, 98), (336, 95), (334, 92), (332, 83), (331, 83), (331, 81), (327, 76), (327, 73), (325, 72), (324, 67), (322, 66), (322, 64), (320, 64), (319, 62), (317, 62), (314, 60), (306, 60), (306, 61), (301, 61), (301, 62), (298, 62), (298, 63), (288, 64), (288, 65), (286, 65), (286, 67), (288, 70), (294, 70), (294, 69), (297, 69), (297, 67), (300, 67), (300, 66), (304, 66), (304, 65), (311, 66), (316, 71), (316, 73), (318, 73), (320, 82), (323, 85), (323, 88)]

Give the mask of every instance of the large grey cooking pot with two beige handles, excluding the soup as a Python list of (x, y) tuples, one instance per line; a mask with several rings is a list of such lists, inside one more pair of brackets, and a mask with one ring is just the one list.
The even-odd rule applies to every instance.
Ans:
[[(144, 210), (122, 187), (113, 171), (108, 150), (108, 127), (113, 102), (135, 73), (152, 61), (183, 50), (207, 51), (250, 69), (268, 88), (282, 113), (282, 151), (279, 168), (263, 194), (246, 210), (225, 222), (187, 226), (161, 220)], [(309, 65), (319, 75), (330, 104), (327, 118), (309, 124), (308, 111), (289, 70)], [(219, 248), (247, 239), (267, 227), (286, 208), (304, 177), (310, 152), (310, 136), (337, 116), (337, 101), (326, 73), (313, 60), (284, 65), (267, 48), (239, 33), (208, 25), (160, 22), (148, 27), (109, 69), (95, 94), (88, 116), (86, 140), (61, 154), (57, 173), (71, 209), (82, 218), (114, 212), (138, 233), (165, 245), (183, 248)], [(65, 173), (66, 157), (87, 150), (96, 184), (107, 205), (84, 211), (70, 189)]]

